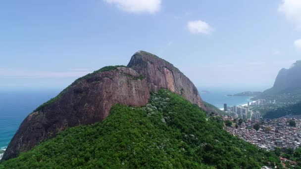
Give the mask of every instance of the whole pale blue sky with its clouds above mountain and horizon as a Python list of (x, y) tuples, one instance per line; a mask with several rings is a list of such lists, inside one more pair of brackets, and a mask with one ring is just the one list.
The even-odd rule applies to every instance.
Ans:
[(0, 89), (63, 89), (146, 50), (200, 89), (263, 90), (299, 39), (300, 0), (2, 0)]

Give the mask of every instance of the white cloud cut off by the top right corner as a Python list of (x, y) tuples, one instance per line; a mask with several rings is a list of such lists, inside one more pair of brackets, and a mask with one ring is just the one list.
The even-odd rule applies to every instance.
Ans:
[(301, 30), (301, 0), (282, 0), (278, 11)]

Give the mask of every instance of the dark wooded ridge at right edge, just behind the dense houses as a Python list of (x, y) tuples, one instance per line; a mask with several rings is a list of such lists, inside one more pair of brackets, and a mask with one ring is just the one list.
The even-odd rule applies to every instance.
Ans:
[(276, 119), (283, 116), (301, 115), (301, 102), (289, 106), (284, 106), (267, 112), (263, 118)]

